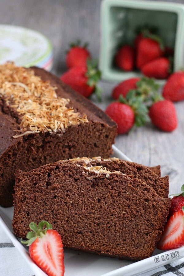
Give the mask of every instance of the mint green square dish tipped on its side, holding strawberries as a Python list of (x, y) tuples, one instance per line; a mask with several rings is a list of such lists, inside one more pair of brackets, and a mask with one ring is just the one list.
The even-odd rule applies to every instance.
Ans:
[(184, 5), (138, 0), (103, 0), (101, 5), (100, 69), (102, 79), (120, 82), (139, 77), (138, 71), (125, 72), (113, 64), (120, 44), (133, 45), (137, 27), (158, 29), (164, 44), (174, 48), (174, 71), (184, 61)]

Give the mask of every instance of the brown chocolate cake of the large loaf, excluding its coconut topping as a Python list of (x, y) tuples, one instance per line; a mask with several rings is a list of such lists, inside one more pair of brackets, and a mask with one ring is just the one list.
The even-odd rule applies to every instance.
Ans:
[[(13, 185), (18, 169), (29, 171), (59, 159), (78, 156), (102, 155), (109, 157), (112, 144), (117, 135), (116, 123), (88, 99), (64, 85), (57, 77), (33, 67), (36, 75), (49, 80), (58, 89), (56, 93), (70, 98), (70, 105), (76, 111), (86, 113), (88, 123), (72, 125), (65, 132), (34, 133), (14, 139), (14, 130), (18, 129), (17, 114), (10, 113), (0, 100), (0, 205), (13, 205)], [(15, 119), (16, 117), (16, 119)]]

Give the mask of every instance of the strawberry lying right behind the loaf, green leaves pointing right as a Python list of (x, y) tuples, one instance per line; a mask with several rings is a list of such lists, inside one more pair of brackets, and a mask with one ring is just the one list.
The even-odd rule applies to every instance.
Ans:
[(73, 67), (65, 72), (60, 79), (84, 97), (89, 97), (95, 92), (100, 100), (101, 91), (96, 85), (100, 77), (101, 72), (97, 69), (97, 63), (89, 60), (87, 66)]

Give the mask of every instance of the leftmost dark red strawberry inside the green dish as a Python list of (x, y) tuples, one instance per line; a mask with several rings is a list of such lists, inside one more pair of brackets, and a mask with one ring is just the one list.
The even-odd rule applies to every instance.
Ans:
[(125, 71), (132, 71), (135, 63), (135, 51), (133, 47), (122, 46), (115, 56), (116, 65)]

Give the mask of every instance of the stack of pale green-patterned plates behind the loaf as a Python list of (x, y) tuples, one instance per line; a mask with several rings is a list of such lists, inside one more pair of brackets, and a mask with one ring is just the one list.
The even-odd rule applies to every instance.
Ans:
[(0, 64), (13, 61), (18, 66), (38, 66), (50, 71), (53, 64), (51, 42), (31, 29), (0, 25)]

